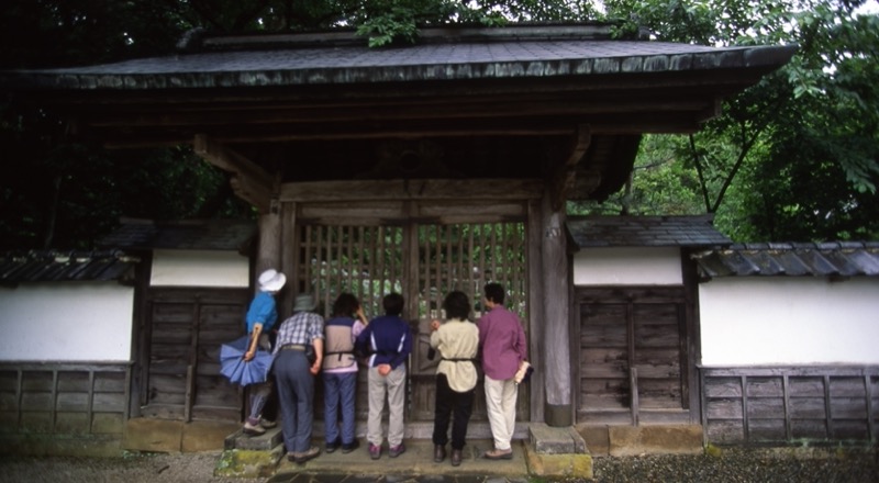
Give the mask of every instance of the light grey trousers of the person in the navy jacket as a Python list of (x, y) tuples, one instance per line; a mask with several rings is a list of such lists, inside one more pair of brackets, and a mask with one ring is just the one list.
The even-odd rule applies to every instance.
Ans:
[(403, 411), (405, 411), (405, 364), (400, 364), (388, 375), (369, 368), (369, 416), (366, 423), (366, 439), (370, 445), (381, 446), (385, 439), (381, 431), (381, 413), (385, 411), (385, 396), (388, 397), (388, 445), (403, 442)]

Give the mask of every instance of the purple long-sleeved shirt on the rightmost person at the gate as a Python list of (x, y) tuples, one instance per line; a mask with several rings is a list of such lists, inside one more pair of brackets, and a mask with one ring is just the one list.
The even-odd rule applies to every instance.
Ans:
[(512, 379), (519, 362), (528, 358), (525, 330), (515, 314), (496, 305), (479, 319), (482, 371), (496, 381)]

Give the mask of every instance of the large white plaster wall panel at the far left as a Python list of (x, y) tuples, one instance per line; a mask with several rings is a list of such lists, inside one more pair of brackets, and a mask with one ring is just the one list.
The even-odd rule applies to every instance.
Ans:
[(27, 283), (0, 288), (0, 360), (131, 360), (131, 287)]

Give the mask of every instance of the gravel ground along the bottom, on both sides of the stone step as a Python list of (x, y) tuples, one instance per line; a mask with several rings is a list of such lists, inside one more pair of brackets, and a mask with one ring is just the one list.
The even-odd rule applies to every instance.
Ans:
[[(127, 458), (0, 457), (0, 483), (266, 483), (268, 479), (213, 476), (219, 452), (136, 454)], [(594, 460), (594, 480), (605, 482), (760, 482), (876, 483), (879, 451), (745, 450), (722, 456), (601, 457)], [(566, 483), (577, 483), (567, 479)]]

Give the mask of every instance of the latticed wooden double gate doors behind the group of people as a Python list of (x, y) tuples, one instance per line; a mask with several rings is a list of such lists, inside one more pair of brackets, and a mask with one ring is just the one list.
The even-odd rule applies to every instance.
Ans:
[[(324, 214), (327, 212), (323, 212)], [(382, 313), (381, 299), (389, 292), (405, 297), (403, 317), (410, 321), (414, 342), (409, 361), (409, 420), (432, 420), (434, 377), (438, 361), (429, 361), (430, 322), (442, 318), (443, 299), (450, 290), (465, 292), (475, 305), (472, 319), (481, 315), (482, 285), (503, 283), (508, 307), (520, 314), (527, 332), (526, 247), (524, 223), (389, 224), (379, 226), (333, 224), (300, 218), (297, 226), (294, 272), (298, 292), (314, 293), (327, 317), (340, 293), (354, 293), (367, 316)], [(318, 401), (322, 401), (318, 384)], [(368, 412), (366, 371), (357, 387), (358, 418)], [(528, 390), (519, 396), (519, 417), (528, 417)], [(323, 404), (315, 404), (322, 417)], [(474, 419), (485, 419), (481, 380), (477, 386)]]

